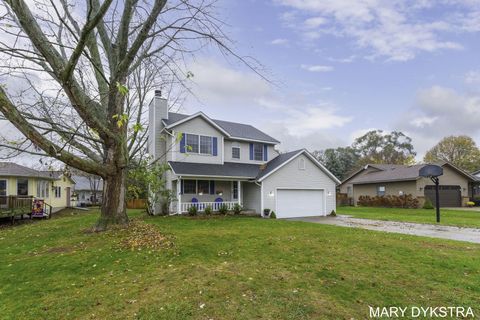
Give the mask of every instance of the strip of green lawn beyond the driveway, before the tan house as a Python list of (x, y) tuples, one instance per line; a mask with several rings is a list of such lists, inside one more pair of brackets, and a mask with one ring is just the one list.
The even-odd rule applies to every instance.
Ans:
[[(338, 207), (338, 214), (351, 215), (355, 218), (406, 221), (436, 224), (435, 209), (401, 209), (401, 208), (369, 208)], [(440, 224), (458, 227), (480, 228), (480, 211), (440, 210)]]

